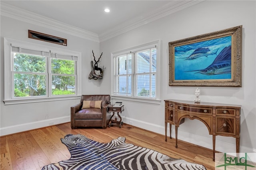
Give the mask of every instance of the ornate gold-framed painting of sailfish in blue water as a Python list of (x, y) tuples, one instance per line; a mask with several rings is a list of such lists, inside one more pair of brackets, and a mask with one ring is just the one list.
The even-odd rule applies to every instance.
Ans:
[(169, 42), (169, 86), (241, 87), (242, 26)]

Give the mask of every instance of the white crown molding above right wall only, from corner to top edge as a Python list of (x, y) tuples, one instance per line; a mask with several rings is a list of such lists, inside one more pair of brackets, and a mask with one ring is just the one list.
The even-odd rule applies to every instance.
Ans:
[(134, 18), (134, 20), (131, 20), (129, 23), (120, 24), (116, 28), (113, 28), (112, 30), (108, 30), (103, 34), (100, 34), (100, 42), (106, 41), (120, 34), (124, 34), (130, 30), (146, 25), (150, 22), (153, 22), (155, 20), (158, 20), (160, 18), (163, 18), (165, 16), (168, 16), (170, 14), (173, 14), (175, 12), (178, 12), (180, 10), (183, 10), (185, 8), (188, 8), (203, 1), (204, 0), (184, 0), (178, 2), (177, 4), (173, 4), (172, 2), (170, 2), (162, 8), (158, 8), (157, 11), (148, 14), (147, 16)]

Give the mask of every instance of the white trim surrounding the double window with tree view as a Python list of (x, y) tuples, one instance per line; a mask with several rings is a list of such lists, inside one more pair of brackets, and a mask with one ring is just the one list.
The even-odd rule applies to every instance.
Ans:
[[(23, 99), (12, 99), (12, 46), (33, 49), (38, 51), (51, 51), (52, 53), (60, 53), (65, 55), (77, 56), (76, 61), (76, 85), (77, 93), (76, 95), (61, 95), (61, 96), (48, 96), (48, 97), (35, 97), (35, 98), (23, 98)], [(35, 44), (30, 42), (24, 42), (20, 40), (14, 40), (10, 38), (4, 38), (4, 104), (18, 104), (18, 103), (34, 103), (34, 102), (44, 102), (44, 101), (58, 101), (58, 100), (69, 100), (69, 99), (80, 99), (81, 96), (81, 56), (82, 53), (79, 51), (72, 51), (68, 49), (62, 49), (58, 47), (51, 47), (47, 45)], [(49, 87), (50, 88), (50, 87)], [(49, 89), (48, 89), (49, 90)]]

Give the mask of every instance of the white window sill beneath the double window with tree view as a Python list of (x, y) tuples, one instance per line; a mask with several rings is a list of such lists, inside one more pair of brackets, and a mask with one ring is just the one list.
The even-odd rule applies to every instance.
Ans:
[(14, 99), (14, 100), (4, 100), (4, 105), (14, 105), (22, 103), (36, 103), (45, 101), (60, 101), (60, 100), (72, 100), (81, 99), (81, 96), (62, 96), (62, 97), (47, 97), (47, 98), (36, 98), (36, 99)]

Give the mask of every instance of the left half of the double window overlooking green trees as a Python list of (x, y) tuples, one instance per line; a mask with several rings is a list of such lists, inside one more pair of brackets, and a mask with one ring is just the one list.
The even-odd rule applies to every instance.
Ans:
[(16, 52), (12, 47), (13, 98), (46, 96), (46, 57)]

